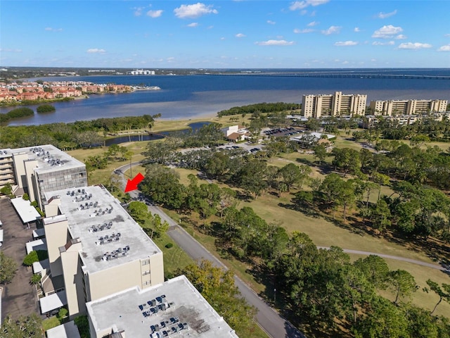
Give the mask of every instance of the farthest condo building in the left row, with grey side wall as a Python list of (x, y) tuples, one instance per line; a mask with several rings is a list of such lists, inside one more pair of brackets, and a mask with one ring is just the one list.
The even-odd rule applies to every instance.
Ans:
[(46, 192), (87, 185), (86, 165), (51, 144), (0, 149), (0, 188), (8, 183), (43, 210)]

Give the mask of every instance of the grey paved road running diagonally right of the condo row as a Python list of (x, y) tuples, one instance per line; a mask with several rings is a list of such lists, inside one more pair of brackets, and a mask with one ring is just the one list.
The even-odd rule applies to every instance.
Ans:
[[(140, 163), (131, 163), (132, 166), (139, 165)], [(130, 165), (122, 165), (122, 167), (117, 168), (124, 173), (129, 170)], [(123, 176), (122, 176), (123, 177)], [(125, 180), (124, 180), (125, 181)], [(132, 198), (137, 198), (139, 192), (134, 190), (130, 192)], [(178, 244), (181, 249), (186, 251), (189, 256), (191, 256), (195, 261), (201, 259), (207, 259), (212, 261), (214, 265), (225, 268), (226, 266), (219, 261), (210, 251), (207, 251), (203, 245), (197, 242), (188, 232), (186, 232), (182, 227), (180, 227), (172, 218), (162, 211), (158, 206), (148, 206), (148, 210), (152, 213), (158, 213), (162, 220), (167, 220), (170, 227), (167, 234)], [(236, 287), (238, 287), (242, 296), (250, 303), (250, 305), (257, 308), (257, 323), (262, 330), (273, 338), (305, 338), (304, 334), (299, 332), (292, 324), (285, 320), (279, 313), (274, 311), (269, 304), (262, 300), (247, 284), (245, 284), (240, 278), (234, 277)]]

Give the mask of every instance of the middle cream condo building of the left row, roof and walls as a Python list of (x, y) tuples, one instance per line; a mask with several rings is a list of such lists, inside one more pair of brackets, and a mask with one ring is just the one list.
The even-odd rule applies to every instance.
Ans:
[(55, 287), (39, 300), (41, 312), (67, 305), (74, 318), (89, 301), (164, 282), (162, 251), (107, 189), (62, 189), (45, 200), (49, 268), (41, 283)]

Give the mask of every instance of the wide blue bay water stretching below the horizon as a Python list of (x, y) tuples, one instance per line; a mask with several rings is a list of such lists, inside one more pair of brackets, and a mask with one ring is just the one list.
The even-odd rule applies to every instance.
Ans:
[[(234, 106), (261, 102), (301, 103), (304, 94), (334, 92), (366, 94), (367, 104), (373, 100), (388, 99), (446, 99), (450, 102), (450, 68), (262, 71), (268, 75), (108, 75), (41, 78), (46, 81), (75, 80), (158, 86), (161, 89), (93, 94), (89, 95), (88, 99), (55, 102), (52, 103), (56, 108), (54, 113), (34, 113), (34, 116), (12, 120), (8, 125), (70, 123), (76, 120), (158, 113), (162, 119), (188, 120), (212, 116)], [(328, 75), (330, 77), (326, 77)], [(348, 75), (352, 77), (347, 77)], [(392, 78), (389, 75), (406, 75), (406, 78)], [(423, 75), (426, 78), (420, 77)], [(439, 77), (439, 80), (434, 78), (435, 76)], [(39, 105), (29, 107), (36, 111), (37, 106)], [(15, 107), (2, 107), (0, 113), (7, 113), (13, 108)]]

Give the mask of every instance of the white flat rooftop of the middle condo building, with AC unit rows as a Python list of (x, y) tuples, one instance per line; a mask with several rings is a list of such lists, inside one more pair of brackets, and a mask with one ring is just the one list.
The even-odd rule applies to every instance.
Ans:
[(79, 238), (82, 242), (80, 256), (89, 273), (161, 253), (104, 187), (63, 189), (45, 195), (47, 201), (59, 196), (63, 215), (46, 218), (44, 222), (67, 218), (72, 239)]

